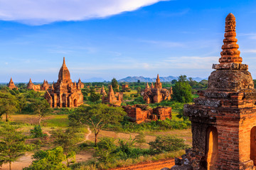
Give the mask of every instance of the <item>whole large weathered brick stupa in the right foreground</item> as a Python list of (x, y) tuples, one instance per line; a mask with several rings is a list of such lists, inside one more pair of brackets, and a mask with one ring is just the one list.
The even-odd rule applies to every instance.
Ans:
[(256, 91), (235, 38), (235, 16), (225, 19), (220, 64), (213, 64), (208, 89), (185, 105), (192, 123), (193, 148), (171, 169), (255, 169)]

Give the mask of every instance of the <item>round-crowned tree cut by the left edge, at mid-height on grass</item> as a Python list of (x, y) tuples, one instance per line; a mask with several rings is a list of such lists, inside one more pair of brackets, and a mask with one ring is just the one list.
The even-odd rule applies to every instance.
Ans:
[(0, 116), (6, 115), (6, 122), (9, 121), (9, 115), (15, 113), (17, 110), (18, 101), (15, 96), (9, 92), (0, 91)]

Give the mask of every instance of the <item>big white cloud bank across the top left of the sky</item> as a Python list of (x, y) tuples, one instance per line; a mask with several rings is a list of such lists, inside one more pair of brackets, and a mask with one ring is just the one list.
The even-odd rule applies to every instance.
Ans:
[(134, 11), (170, 0), (0, 0), (0, 20), (43, 25), (55, 21), (82, 21)]

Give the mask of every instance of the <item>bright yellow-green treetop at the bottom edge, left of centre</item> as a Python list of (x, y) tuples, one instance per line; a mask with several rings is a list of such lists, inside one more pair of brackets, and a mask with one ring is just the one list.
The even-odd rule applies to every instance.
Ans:
[(54, 149), (39, 151), (33, 155), (35, 159), (31, 166), (24, 168), (23, 170), (68, 170), (62, 162), (65, 160), (62, 147), (56, 147)]

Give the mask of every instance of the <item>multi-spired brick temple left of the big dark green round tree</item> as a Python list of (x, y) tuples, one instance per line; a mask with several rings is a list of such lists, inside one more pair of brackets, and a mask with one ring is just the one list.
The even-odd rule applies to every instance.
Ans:
[(156, 83), (151, 84), (149, 89), (149, 84), (146, 84), (146, 89), (143, 93), (143, 99), (146, 103), (159, 103), (164, 100), (171, 99), (171, 91), (162, 88), (162, 84), (159, 79), (159, 74), (157, 74)]

